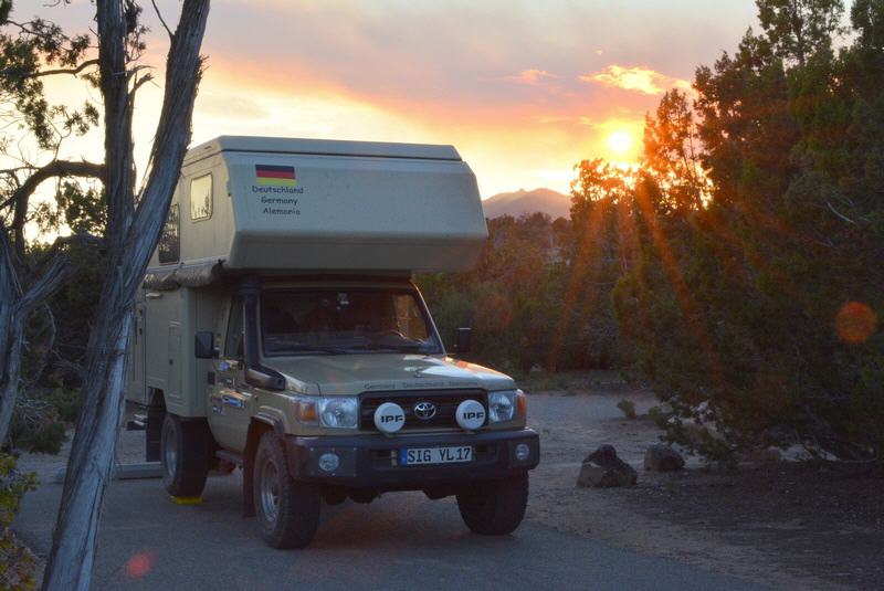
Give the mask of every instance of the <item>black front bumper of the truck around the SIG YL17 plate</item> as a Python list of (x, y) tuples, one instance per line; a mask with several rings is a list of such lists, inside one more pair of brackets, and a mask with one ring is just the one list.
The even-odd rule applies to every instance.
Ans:
[[(528, 456), (516, 458), (516, 446)], [(472, 445), (473, 461), (459, 464), (399, 465), (402, 448)], [(285, 437), (288, 466), (298, 481), (377, 490), (424, 490), (459, 483), (505, 478), (537, 466), (540, 437), (530, 429), (478, 433), (430, 433), (388, 437), (344, 435)], [(324, 454), (338, 456), (332, 472), (319, 467)]]

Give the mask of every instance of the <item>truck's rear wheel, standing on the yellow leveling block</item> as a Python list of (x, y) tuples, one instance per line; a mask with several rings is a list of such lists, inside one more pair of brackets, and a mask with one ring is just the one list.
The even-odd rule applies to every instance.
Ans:
[(198, 497), (209, 474), (211, 435), (202, 421), (166, 414), (160, 436), (162, 485), (175, 497)]

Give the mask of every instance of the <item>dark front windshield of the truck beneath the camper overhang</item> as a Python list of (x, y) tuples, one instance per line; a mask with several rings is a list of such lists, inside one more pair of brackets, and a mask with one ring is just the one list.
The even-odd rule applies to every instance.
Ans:
[(264, 355), (441, 353), (410, 291), (280, 289), (261, 300)]

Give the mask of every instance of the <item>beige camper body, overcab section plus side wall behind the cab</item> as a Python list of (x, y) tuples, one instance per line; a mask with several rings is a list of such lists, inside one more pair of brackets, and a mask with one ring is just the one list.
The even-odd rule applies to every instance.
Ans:
[[(291, 168), (294, 182), (266, 182), (260, 167)], [(127, 399), (147, 405), (162, 391), (176, 414), (207, 415), (191, 393), (210, 362), (189, 348), (197, 330), (223, 334), (223, 274), (465, 271), (486, 235), (475, 176), (451, 146), (238, 136), (197, 146), (138, 295)]]

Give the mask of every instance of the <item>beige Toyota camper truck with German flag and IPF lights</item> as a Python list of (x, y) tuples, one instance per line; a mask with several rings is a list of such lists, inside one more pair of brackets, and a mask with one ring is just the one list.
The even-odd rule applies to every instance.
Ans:
[[(176, 499), (242, 469), (264, 540), (298, 548), (323, 503), (456, 496), (518, 527), (539, 460), (512, 378), (443, 344), (414, 273), (486, 239), (451, 146), (219, 137), (191, 149), (136, 302), (127, 400)], [(451, 345), (451, 349), (446, 349)]]

